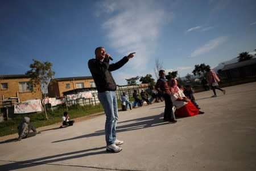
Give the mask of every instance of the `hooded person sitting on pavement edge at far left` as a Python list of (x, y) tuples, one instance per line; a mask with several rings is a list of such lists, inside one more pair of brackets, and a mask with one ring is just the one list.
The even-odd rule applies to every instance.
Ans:
[[(23, 138), (28, 138), (30, 136), (35, 136), (39, 132), (36, 131), (35, 127), (33, 125), (29, 125), (30, 123), (30, 118), (29, 117), (24, 117), (23, 121), (20, 123), (18, 126), (18, 140), (21, 140)], [(33, 132), (30, 132), (32, 130)]]

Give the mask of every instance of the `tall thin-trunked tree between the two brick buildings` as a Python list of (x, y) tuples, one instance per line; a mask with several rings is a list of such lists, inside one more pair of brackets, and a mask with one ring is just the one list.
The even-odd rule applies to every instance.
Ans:
[(26, 75), (30, 76), (31, 84), (33, 86), (40, 85), (41, 91), (43, 93), (43, 105), (44, 105), (44, 113), (46, 114), (46, 119), (48, 120), (47, 112), (46, 112), (46, 104), (44, 100), (46, 99), (47, 86), (50, 80), (55, 75), (55, 72), (52, 71), (52, 63), (51, 62), (40, 62), (36, 59), (33, 59), (34, 63), (30, 64), (29, 71), (26, 72)]

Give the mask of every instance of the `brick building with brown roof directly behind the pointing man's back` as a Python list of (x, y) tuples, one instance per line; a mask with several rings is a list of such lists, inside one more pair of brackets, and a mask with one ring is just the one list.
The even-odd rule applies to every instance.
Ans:
[(63, 92), (75, 90), (77, 88), (94, 88), (95, 83), (92, 76), (77, 76), (68, 78), (52, 79), (48, 85), (49, 97), (63, 96)]

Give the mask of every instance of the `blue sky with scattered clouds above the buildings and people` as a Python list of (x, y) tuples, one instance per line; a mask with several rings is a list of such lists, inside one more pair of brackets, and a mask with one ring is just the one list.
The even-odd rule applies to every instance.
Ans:
[[(256, 49), (255, 0), (0, 0), (0, 74), (24, 74), (32, 59), (53, 64), (55, 78), (90, 76), (88, 60), (104, 46), (117, 62), (117, 84), (135, 76), (155, 78), (163, 69), (192, 74)], [(139, 83), (139, 82), (138, 82)]]

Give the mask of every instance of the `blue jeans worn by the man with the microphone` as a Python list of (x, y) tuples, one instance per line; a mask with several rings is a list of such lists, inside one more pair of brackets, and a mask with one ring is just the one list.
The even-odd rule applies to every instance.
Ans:
[(118, 109), (117, 109), (117, 98), (115, 97), (114, 91), (105, 91), (98, 93), (98, 100), (100, 100), (105, 114), (105, 139), (106, 144), (114, 144), (116, 139), (116, 130), (118, 120)]

